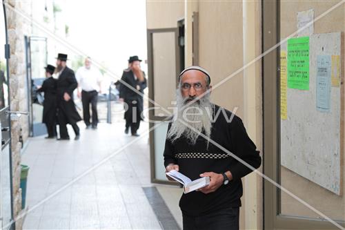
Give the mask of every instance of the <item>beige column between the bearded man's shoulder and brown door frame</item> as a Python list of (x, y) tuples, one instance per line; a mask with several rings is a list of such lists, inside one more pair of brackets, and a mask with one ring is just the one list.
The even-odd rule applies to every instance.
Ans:
[[(259, 30), (257, 30), (257, 26), (260, 25), (259, 4), (259, 1), (243, 1), (244, 65), (259, 55), (257, 52), (261, 41)], [(261, 97), (258, 97), (261, 93), (260, 88), (258, 88), (258, 83), (261, 82), (261, 73), (256, 66), (257, 63), (253, 63), (244, 69), (244, 124), (248, 135), (255, 144), (261, 141), (257, 135), (257, 117), (261, 116), (258, 108), (262, 103)], [(244, 229), (262, 229), (260, 220), (262, 215), (259, 214), (258, 208), (258, 202), (261, 202), (258, 194), (261, 194), (262, 191), (258, 191), (260, 187), (258, 181), (258, 176), (255, 173), (244, 178)]]

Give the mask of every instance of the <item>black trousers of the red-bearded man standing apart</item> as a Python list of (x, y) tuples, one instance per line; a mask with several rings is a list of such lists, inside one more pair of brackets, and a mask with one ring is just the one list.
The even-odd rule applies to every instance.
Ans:
[(126, 102), (128, 104), (128, 110), (125, 112), (126, 128), (130, 128), (132, 134), (137, 133), (141, 121), (141, 111), (138, 111), (138, 103), (133, 100)]

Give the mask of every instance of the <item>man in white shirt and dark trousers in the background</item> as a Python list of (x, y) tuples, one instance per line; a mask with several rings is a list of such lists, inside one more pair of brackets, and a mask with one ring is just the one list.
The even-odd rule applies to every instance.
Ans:
[[(101, 72), (97, 68), (91, 66), (91, 59), (85, 59), (85, 65), (77, 70), (78, 81), (78, 97), (81, 97), (83, 104), (83, 120), (86, 128), (96, 129), (98, 124), (97, 115), (97, 95), (101, 89)], [(92, 110), (92, 123), (90, 123), (90, 104)]]

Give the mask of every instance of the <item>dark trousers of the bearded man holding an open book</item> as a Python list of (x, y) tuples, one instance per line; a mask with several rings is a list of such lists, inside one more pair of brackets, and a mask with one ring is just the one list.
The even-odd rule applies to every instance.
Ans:
[(199, 216), (183, 214), (184, 230), (238, 230), (239, 208), (226, 208)]

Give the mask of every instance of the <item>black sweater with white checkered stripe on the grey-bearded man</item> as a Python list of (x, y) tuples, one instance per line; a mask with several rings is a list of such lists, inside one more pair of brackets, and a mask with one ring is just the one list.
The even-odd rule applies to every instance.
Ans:
[[(259, 151), (248, 137), (242, 119), (233, 115), (230, 121), (232, 115), (230, 111), (214, 106), (213, 116), (217, 119), (212, 123), (210, 139), (257, 169), (261, 164)], [(170, 126), (171, 124), (168, 129)], [(227, 185), (221, 185), (213, 193), (193, 191), (183, 194), (179, 206), (185, 215), (204, 215), (226, 207), (241, 206), (240, 198), (243, 193), (241, 178), (252, 170), (211, 142), (207, 143), (204, 137), (199, 136), (195, 144), (188, 143), (185, 137), (180, 137), (173, 143), (166, 140), (164, 165), (168, 166), (171, 163), (178, 164), (179, 172), (191, 180), (200, 178), (199, 175), (205, 172), (230, 171), (233, 175), (233, 180)]]

